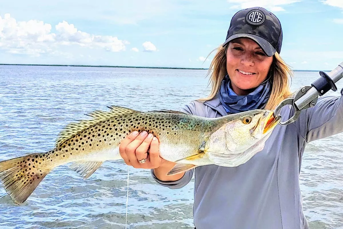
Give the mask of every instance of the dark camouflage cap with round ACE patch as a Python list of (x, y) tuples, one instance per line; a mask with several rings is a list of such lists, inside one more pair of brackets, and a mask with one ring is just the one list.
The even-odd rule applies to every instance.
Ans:
[(240, 37), (255, 41), (267, 56), (273, 56), (275, 51), (281, 51), (281, 23), (273, 13), (262, 7), (238, 11), (231, 19), (223, 46)]

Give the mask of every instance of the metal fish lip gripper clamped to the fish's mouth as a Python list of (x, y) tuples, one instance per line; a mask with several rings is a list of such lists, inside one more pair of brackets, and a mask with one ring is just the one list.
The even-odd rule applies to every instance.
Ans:
[(311, 83), (311, 86), (303, 86), (295, 93), (293, 98), (288, 98), (283, 100), (275, 109), (277, 113), (281, 107), (285, 105), (291, 105), (294, 108), (294, 114), (287, 121), (280, 122), (281, 126), (286, 126), (288, 124), (296, 121), (302, 110), (306, 110), (310, 107), (314, 107), (317, 103), (318, 96), (322, 96), (328, 91), (337, 91), (336, 82), (343, 78), (343, 62), (339, 64), (335, 69), (326, 73), (324, 71), (319, 71), (320, 77)]

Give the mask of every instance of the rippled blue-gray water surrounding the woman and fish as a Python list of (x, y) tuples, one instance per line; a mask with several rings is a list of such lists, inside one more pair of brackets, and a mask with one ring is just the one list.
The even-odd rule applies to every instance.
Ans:
[[(52, 149), (59, 131), (119, 105), (179, 110), (205, 97), (205, 70), (0, 66), (0, 160)], [(292, 89), (318, 72), (295, 72)], [(342, 80), (343, 81), (343, 80)], [(337, 83), (338, 88), (343, 82)], [(327, 94), (339, 95), (338, 92)], [(311, 142), (300, 173), (310, 228), (343, 228), (343, 134)], [(50, 172), (21, 206), (0, 188), (0, 228), (125, 228), (128, 167), (107, 161), (83, 180), (67, 165)], [(170, 190), (130, 168), (128, 228), (193, 228), (193, 180)]]

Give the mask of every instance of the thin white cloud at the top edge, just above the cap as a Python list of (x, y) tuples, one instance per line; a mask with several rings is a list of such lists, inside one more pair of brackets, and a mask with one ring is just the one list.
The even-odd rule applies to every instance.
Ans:
[(263, 7), (272, 12), (285, 11), (281, 5), (292, 4), (300, 0), (227, 0), (229, 3), (234, 3), (232, 9), (246, 9), (250, 7)]

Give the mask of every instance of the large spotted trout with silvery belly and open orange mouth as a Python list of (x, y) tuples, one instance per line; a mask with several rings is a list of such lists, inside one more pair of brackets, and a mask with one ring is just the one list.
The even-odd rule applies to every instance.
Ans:
[(59, 165), (73, 162), (70, 168), (87, 179), (104, 161), (122, 160), (120, 142), (135, 130), (157, 137), (160, 156), (176, 162), (167, 174), (173, 175), (201, 165), (235, 167), (245, 163), (263, 149), (280, 121), (279, 115), (268, 110), (206, 118), (172, 110), (108, 108), (86, 114), (91, 119), (67, 124), (49, 151), (0, 162), (0, 181), (15, 204), (24, 203)]

